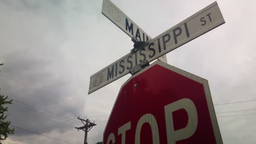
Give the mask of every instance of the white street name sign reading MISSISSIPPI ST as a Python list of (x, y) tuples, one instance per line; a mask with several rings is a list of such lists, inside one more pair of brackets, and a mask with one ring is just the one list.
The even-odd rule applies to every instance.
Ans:
[(149, 41), (135, 53), (128, 53), (90, 77), (89, 94), (129, 73), (129, 70), (147, 60), (154, 59), (177, 49), (185, 43), (225, 23), (217, 2), (208, 5), (166, 32)]

